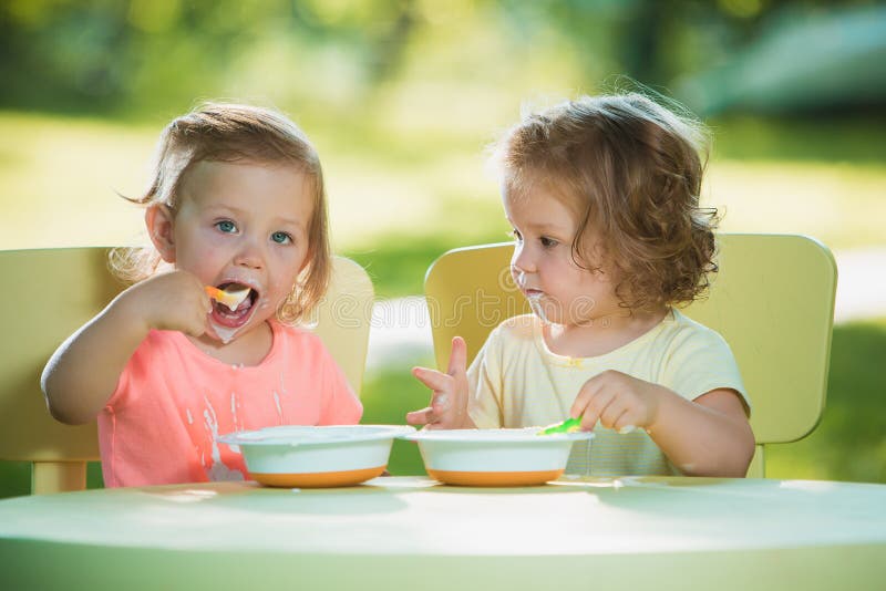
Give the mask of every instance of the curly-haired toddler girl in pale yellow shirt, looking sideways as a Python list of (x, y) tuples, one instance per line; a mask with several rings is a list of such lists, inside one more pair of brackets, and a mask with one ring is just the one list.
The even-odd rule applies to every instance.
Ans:
[(640, 95), (584, 96), (497, 146), (512, 274), (533, 314), (506, 320), (470, 369), (415, 367), (427, 428), (594, 429), (567, 474), (744, 476), (754, 450), (735, 360), (677, 309), (707, 288), (717, 211), (699, 206), (701, 125)]

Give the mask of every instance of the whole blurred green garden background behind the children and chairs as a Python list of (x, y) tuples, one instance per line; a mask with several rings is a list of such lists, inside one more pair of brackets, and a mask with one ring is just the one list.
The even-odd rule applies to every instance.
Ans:
[[(419, 294), (446, 249), (506, 239), (484, 149), (522, 110), (638, 81), (713, 131), (723, 229), (886, 253), (883, 63), (872, 1), (0, 0), (0, 248), (141, 240), (117, 194), (144, 188), (161, 128), (247, 101), (316, 143), (336, 251), (380, 298)], [(771, 476), (886, 481), (884, 309), (839, 319), (822, 424), (774, 446)], [(402, 423), (430, 350), (383, 357), (364, 422)], [(421, 473), (414, 447), (390, 469)], [(27, 470), (0, 466), (0, 495)]]

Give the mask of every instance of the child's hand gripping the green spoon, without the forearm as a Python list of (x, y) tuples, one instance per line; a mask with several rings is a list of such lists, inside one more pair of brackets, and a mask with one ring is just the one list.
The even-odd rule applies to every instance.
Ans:
[(597, 421), (616, 431), (649, 428), (658, 414), (662, 390), (657, 384), (608, 370), (585, 382), (569, 415), (581, 416), (584, 431), (593, 429)]

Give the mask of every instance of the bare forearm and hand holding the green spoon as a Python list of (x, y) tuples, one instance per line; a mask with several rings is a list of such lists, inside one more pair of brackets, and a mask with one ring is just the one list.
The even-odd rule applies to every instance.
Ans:
[(744, 476), (754, 436), (739, 395), (708, 392), (688, 401), (664, 386), (617, 371), (588, 380), (570, 409), (581, 427), (645, 428), (668, 459), (692, 476)]

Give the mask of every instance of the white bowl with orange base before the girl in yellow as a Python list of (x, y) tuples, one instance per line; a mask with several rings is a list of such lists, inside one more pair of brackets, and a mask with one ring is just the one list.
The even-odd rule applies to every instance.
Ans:
[(418, 442), (429, 476), (463, 486), (542, 485), (566, 469), (573, 443), (589, 432), (538, 435), (522, 429), (419, 431), (400, 435)]

